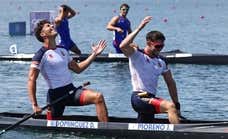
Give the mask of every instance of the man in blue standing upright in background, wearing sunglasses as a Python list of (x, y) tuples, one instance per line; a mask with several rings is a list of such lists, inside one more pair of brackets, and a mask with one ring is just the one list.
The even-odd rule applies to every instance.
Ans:
[(107, 29), (114, 32), (113, 46), (116, 49), (116, 53), (122, 53), (119, 45), (131, 33), (131, 23), (127, 19), (129, 8), (127, 4), (122, 4), (120, 6), (120, 15), (114, 16), (107, 25)]

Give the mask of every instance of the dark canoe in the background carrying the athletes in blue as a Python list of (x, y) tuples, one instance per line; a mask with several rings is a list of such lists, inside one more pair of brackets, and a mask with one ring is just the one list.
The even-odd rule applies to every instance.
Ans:
[[(13, 54), (0, 55), (1, 61), (31, 61), (34, 54)], [(81, 61), (86, 59), (90, 54), (82, 54), (80, 56), (73, 55), (72, 57)], [(180, 50), (161, 52), (161, 56), (170, 64), (213, 64), (226, 65), (228, 64), (228, 55), (222, 54), (200, 54), (200, 53), (186, 53)], [(128, 59), (123, 54), (106, 53), (97, 56), (97, 62), (127, 62)]]

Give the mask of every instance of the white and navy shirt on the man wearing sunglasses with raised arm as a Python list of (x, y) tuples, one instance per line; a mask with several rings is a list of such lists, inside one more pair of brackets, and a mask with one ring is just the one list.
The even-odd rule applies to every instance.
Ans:
[(139, 50), (129, 57), (129, 68), (133, 91), (147, 91), (154, 95), (159, 76), (169, 70), (161, 58), (150, 58)]

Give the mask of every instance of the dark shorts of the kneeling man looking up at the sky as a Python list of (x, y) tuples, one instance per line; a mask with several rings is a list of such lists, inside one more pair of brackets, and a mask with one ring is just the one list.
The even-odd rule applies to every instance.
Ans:
[[(73, 84), (66, 85), (64, 87), (59, 87), (56, 89), (49, 89), (47, 93), (47, 103), (50, 104), (56, 99), (63, 97), (70, 91), (76, 89)], [(51, 112), (51, 117), (60, 117), (63, 115), (65, 106), (81, 106), (83, 105), (82, 103), (82, 93), (83, 90), (79, 89), (76, 91), (76, 93), (71, 94), (69, 97), (66, 99), (60, 101), (57, 104), (54, 104), (53, 106), (50, 107), (49, 112)], [(49, 115), (50, 116), (50, 115)]]

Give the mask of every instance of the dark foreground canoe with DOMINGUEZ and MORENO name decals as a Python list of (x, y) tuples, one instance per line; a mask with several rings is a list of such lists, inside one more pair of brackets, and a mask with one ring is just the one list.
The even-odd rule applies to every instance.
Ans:
[[(21, 120), (25, 113), (0, 113), (0, 127), (5, 128)], [(110, 117), (110, 122), (97, 121), (96, 116), (68, 115), (61, 120), (46, 120), (39, 115), (20, 124), (22, 128), (50, 131), (70, 131), (109, 137), (156, 139), (226, 139), (228, 121), (182, 120), (182, 124), (169, 124), (167, 119), (154, 119), (152, 123), (136, 123), (134, 118)]]

